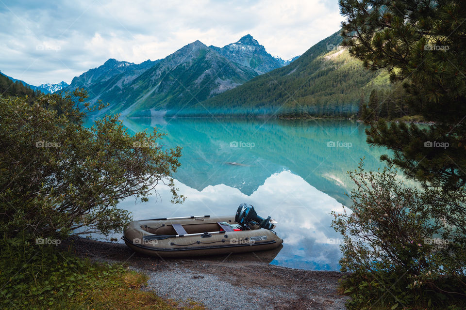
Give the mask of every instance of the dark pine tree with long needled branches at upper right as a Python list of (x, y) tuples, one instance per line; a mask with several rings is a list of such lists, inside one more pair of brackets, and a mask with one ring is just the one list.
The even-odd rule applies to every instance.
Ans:
[[(399, 114), (434, 121), (371, 122), (368, 142), (393, 155), (381, 158), (427, 186), (466, 185), (466, 1), (339, 0), (343, 45), (371, 70), (385, 69), (406, 94)], [(392, 93), (402, 91), (399, 86)], [(398, 104), (397, 104), (398, 105)]]

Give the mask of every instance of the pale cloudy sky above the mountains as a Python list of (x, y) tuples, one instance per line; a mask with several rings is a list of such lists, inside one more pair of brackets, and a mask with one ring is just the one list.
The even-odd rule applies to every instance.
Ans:
[(0, 70), (36, 86), (69, 84), (109, 58), (140, 63), (248, 33), (287, 60), (342, 20), (337, 0), (0, 0)]

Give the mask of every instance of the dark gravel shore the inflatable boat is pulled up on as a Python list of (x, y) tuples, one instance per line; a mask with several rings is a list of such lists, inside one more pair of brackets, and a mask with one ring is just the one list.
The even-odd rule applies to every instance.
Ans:
[(347, 297), (336, 289), (342, 273), (270, 265), (266, 252), (161, 259), (135, 253), (118, 243), (73, 238), (62, 246), (70, 244), (78, 256), (124, 263), (147, 274), (144, 290), (163, 298), (201, 302), (209, 310), (346, 309)]

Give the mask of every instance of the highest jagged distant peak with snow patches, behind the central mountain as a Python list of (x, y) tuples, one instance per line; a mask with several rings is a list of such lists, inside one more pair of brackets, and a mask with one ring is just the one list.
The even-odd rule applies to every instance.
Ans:
[(258, 74), (264, 74), (288, 64), (280, 57), (276, 58), (267, 53), (266, 48), (260, 45), (250, 34), (224, 47), (220, 48), (211, 45), (210, 48), (226, 59), (249, 67)]

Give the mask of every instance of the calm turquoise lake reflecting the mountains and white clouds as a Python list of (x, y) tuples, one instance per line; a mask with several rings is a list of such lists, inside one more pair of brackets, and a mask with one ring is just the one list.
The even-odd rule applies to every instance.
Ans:
[(124, 125), (130, 133), (158, 127), (163, 146), (183, 147), (174, 178), (186, 201), (171, 204), (160, 186), (149, 202), (119, 204), (134, 219), (233, 215), (247, 202), (278, 221), (283, 248), (271, 263), (309, 270), (339, 270), (341, 237), (330, 213), (350, 205), (347, 171), (362, 157), (366, 170), (377, 170), (386, 153), (366, 143), (364, 124), (348, 120), (148, 118)]

